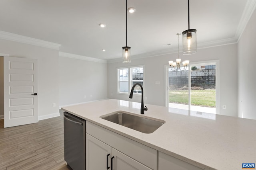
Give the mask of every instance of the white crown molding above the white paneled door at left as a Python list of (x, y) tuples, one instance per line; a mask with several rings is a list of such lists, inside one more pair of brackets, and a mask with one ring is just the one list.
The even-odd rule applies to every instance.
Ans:
[(16, 41), (19, 43), (25, 43), (30, 45), (36, 45), (36, 46), (46, 47), (46, 48), (55, 49), (55, 50), (59, 50), (61, 46), (61, 44), (51, 43), (48, 41), (26, 37), (26, 36), (14, 34), (14, 33), (8, 33), (5, 31), (0, 31), (0, 39)]

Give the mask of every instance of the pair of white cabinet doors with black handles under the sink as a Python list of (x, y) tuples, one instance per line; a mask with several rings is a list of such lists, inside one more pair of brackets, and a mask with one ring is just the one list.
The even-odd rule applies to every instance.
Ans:
[(152, 170), (102, 141), (86, 134), (86, 170), (108, 169)]

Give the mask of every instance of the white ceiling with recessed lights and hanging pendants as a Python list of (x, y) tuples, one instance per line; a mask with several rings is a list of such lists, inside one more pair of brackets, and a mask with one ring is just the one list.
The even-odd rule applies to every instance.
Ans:
[[(198, 48), (237, 42), (255, 1), (190, 0), (190, 28), (197, 29)], [(126, 46), (125, 3), (0, 0), (0, 30), (61, 44), (65, 53), (116, 59)], [(188, 29), (187, 0), (128, 0), (129, 7), (136, 8), (134, 14), (128, 13), (127, 45), (133, 56), (177, 51), (176, 33)]]

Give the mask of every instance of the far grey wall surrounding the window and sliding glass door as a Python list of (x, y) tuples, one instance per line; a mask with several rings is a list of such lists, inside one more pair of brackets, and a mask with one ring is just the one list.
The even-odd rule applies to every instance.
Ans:
[[(145, 104), (164, 106), (164, 65), (169, 60), (175, 60), (177, 53), (134, 59), (130, 64), (122, 62), (108, 64), (108, 98), (140, 102), (140, 96), (129, 99), (128, 94), (117, 94), (116, 68), (125, 66), (144, 65), (144, 98)], [(220, 108), (221, 115), (237, 116), (237, 44), (222, 45), (206, 49), (198, 49), (194, 55), (181, 55), (183, 60), (190, 62), (220, 61), (220, 106), (226, 105), (226, 109)], [(160, 84), (155, 84), (159, 81)]]

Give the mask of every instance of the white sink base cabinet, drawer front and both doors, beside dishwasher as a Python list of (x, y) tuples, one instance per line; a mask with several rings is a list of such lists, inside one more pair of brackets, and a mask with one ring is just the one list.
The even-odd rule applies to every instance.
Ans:
[(157, 170), (157, 156), (155, 149), (86, 123), (86, 170), (111, 170), (111, 164), (113, 170)]

